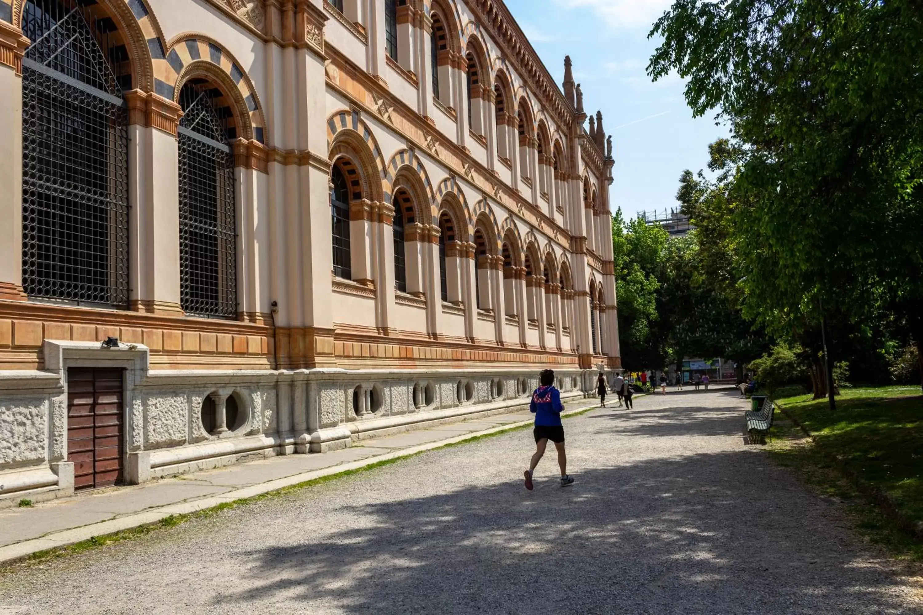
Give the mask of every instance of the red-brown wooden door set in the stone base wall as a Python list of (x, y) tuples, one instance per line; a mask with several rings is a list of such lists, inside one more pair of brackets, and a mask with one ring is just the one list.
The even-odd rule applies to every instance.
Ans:
[(67, 370), (67, 461), (74, 488), (108, 487), (122, 480), (125, 370)]

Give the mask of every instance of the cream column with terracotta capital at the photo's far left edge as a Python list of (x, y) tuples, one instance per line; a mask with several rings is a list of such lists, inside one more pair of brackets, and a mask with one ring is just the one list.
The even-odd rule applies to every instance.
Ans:
[(22, 290), (22, 56), (29, 39), (0, 19), (0, 300)]

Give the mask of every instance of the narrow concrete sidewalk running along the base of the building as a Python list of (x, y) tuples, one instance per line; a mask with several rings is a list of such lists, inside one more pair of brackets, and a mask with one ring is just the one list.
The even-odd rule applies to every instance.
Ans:
[[(592, 398), (565, 404), (562, 416), (595, 408)], [(156, 523), (306, 480), (366, 467), (532, 422), (528, 410), (364, 440), (331, 453), (286, 455), (154, 480), (137, 486), (84, 491), (25, 508), (0, 510), (0, 562), (66, 547), (94, 536)]]

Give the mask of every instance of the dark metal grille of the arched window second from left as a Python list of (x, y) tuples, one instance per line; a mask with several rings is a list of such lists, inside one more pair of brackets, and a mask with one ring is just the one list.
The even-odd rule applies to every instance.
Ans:
[[(237, 316), (234, 155), (221, 92), (201, 83), (180, 90), (180, 302), (198, 316)], [(222, 117), (223, 115), (223, 117)]]

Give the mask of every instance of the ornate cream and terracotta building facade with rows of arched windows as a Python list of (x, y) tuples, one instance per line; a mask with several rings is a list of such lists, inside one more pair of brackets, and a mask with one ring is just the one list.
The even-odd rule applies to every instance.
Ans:
[(0, 502), (619, 366), (601, 114), (499, 0), (0, 0)]

